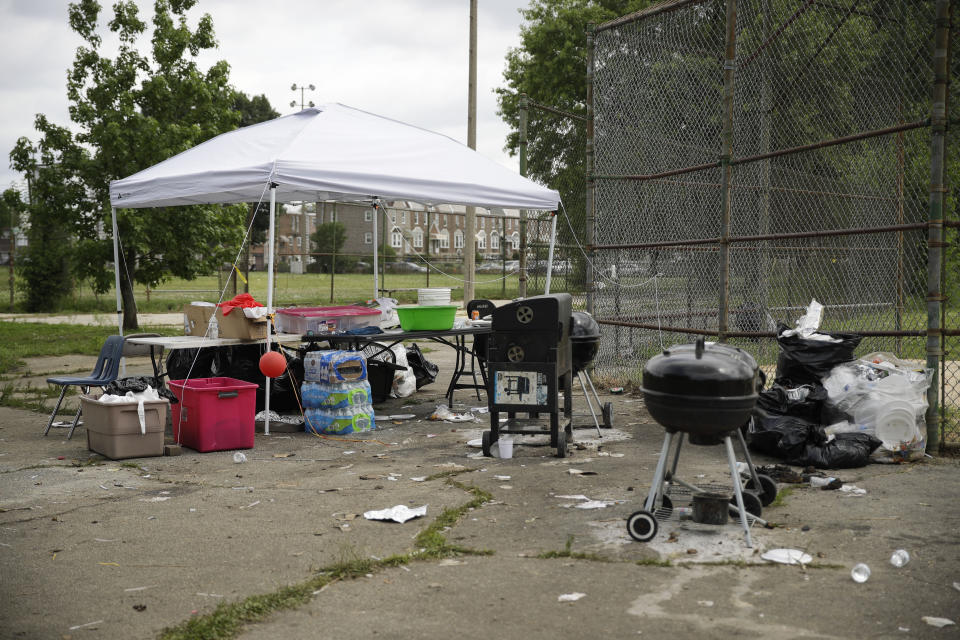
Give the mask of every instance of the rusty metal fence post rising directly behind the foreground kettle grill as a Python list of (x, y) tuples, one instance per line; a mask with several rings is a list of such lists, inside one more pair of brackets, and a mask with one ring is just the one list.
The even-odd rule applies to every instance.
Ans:
[(723, 149), (720, 152), (720, 198), (723, 208), (720, 228), (720, 308), (717, 317), (717, 340), (723, 342), (727, 334), (727, 316), (730, 313), (730, 189), (733, 153), (733, 70), (737, 61), (737, 0), (727, 0), (726, 53), (723, 60)]

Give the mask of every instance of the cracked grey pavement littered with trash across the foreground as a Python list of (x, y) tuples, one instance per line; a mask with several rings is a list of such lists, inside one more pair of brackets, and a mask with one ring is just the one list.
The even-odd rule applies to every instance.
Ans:
[[(451, 353), (431, 345), (427, 357), (449, 371)], [(245, 464), (189, 449), (104, 460), (86, 450), (83, 429), (44, 438), (44, 415), (0, 408), (0, 637), (156, 638), (325, 567), (415, 551), (417, 534), (472, 489), (490, 499), (442, 535), (491, 555), (374, 568), (238, 637), (957, 637), (956, 626), (922, 620), (960, 622), (956, 460), (834, 472), (860, 496), (791, 488), (764, 510), (778, 526), (754, 527), (754, 549), (735, 523), (677, 520), (643, 544), (625, 520), (641, 508), (663, 431), (642, 400), (604, 393), (615, 428), (602, 439), (576, 429), (566, 459), (520, 437), (532, 442), (500, 460), (468, 444), (485, 415), (427, 419), (444, 388), (441, 379), (378, 406), (380, 428), (357, 438), (258, 434)], [(484, 404), (457, 397), (458, 410)], [(575, 407), (585, 411), (582, 397)], [(399, 413), (416, 418), (384, 419)], [(725, 464), (720, 447), (688, 446), (680, 472), (729, 484)], [(607, 506), (578, 508), (578, 496)], [(398, 504), (426, 504), (427, 515), (362, 516)], [(804, 550), (811, 565), (760, 559), (781, 547)], [(897, 548), (912, 555), (901, 569), (887, 562)], [(857, 562), (873, 570), (864, 584), (850, 579)]]

